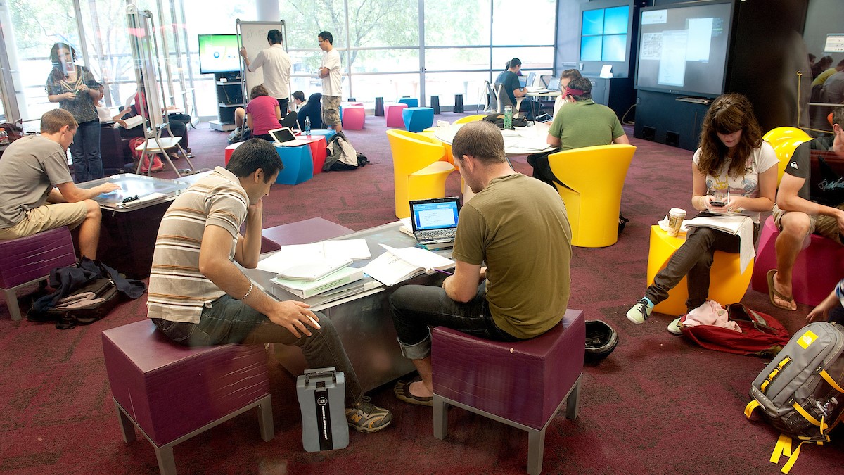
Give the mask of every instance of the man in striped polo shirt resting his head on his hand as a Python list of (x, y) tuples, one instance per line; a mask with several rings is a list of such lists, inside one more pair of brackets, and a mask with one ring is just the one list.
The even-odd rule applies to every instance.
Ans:
[[(179, 195), (161, 220), (149, 275), (148, 316), (189, 347), (283, 343), (302, 349), (311, 368), (333, 366), (346, 379), (346, 418), (360, 432), (387, 427), (392, 413), (363, 396), (331, 320), (302, 302), (279, 302), (232, 262), (254, 268), (261, 252), (262, 198), (282, 168), (275, 148), (251, 139)], [(246, 232), (241, 236), (241, 224)]]

